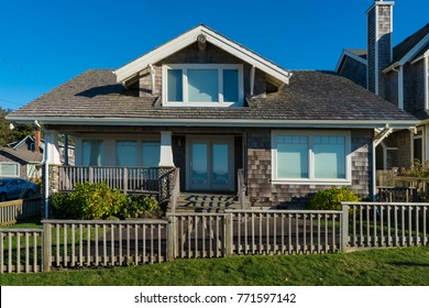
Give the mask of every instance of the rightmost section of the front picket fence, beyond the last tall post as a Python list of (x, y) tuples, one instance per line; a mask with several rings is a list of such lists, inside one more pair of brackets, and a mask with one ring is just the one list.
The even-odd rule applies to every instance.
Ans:
[(429, 204), (343, 202), (349, 248), (429, 244)]

